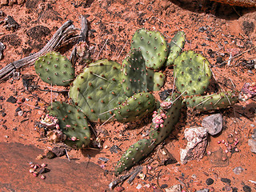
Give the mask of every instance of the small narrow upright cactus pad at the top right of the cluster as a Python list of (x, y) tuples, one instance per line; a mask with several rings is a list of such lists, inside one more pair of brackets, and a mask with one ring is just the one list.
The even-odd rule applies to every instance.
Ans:
[(168, 55), (166, 66), (174, 65), (175, 58), (182, 52), (186, 42), (185, 33), (183, 31), (178, 31), (174, 38), (170, 42), (170, 53)]

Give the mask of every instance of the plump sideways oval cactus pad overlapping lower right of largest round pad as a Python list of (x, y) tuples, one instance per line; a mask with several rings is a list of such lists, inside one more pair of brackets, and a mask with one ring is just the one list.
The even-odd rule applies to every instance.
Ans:
[(153, 94), (134, 94), (114, 110), (114, 118), (119, 122), (134, 121), (152, 112), (154, 110), (154, 106), (155, 99)]

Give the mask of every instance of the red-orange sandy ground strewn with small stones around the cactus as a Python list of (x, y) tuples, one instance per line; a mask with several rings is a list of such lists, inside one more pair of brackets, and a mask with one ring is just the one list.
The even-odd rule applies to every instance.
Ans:
[[(158, 30), (168, 42), (183, 30), (184, 50), (194, 50), (210, 62), (215, 81), (212, 89), (241, 90), (246, 82), (256, 80), (255, 8), (190, 0), (0, 2), (0, 50), (5, 47), (0, 56), (1, 69), (41, 50), (64, 22), (71, 20), (80, 28), (84, 15), (90, 27), (88, 60), (107, 58), (122, 63), (130, 50), (130, 39), (140, 28)], [(63, 46), (58, 51), (69, 57), (72, 49)], [(77, 62), (76, 73), (84, 66)], [(173, 87), (172, 71), (171, 67), (163, 71), (166, 83), (162, 90)], [(108, 185), (117, 179), (114, 166), (118, 159), (150, 126), (150, 117), (128, 124), (97, 123), (94, 129), (98, 131), (101, 126), (105, 133), (100, 135), (102, 146), (73, 150), (47, 142), (46, 130), (39, 123), (52, 99), (66, 99), (61, 91), (68, 87), (51, 88), (31, 65), (16, 71), (0, 89), (2, 191), (110, 191)], [(256, 191), (255, 112), (254, 99), (211, 113), (183, 110), (170, 137), (140, 163), (142, 171), (134, 181), (122, 182), (114, 190)], [(186, 128), (202, 126), (202, 119), (210, 114), (221, 115), (221, 132), (204, 138), (206, 150), (201, 158), (183, 164), (180, 151), (186, 148)], [(226, 143), (234, 147), (229, 150)], [(55, 154), (49, 151), (64, 155), (51, 158)], [(46, 166), (37, 167), (40, 174), (34, 177), (31, 164), (43, 163)], [(179, 189), (171, 190), (172, 186)]]

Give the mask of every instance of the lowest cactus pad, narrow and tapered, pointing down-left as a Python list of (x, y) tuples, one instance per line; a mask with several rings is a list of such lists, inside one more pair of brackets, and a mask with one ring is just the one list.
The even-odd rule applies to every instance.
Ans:
[(131, 166), (142, 160), (142, 158), (146, 158), (154, 150), (154, 147), (155, 144), (150, 139), (142, 139), (134, 143), (118, 161), (115, 167), (115, 174), (121, 174), (123, 170), (128, 170)]

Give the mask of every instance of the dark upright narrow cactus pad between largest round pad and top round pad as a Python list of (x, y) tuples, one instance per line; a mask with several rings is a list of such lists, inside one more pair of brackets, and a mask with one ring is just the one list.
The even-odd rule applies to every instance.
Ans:
[(141, 51), (131, 50), (122, 66), (122, 87), (126, 96), (147, 91), (146, 66)]

